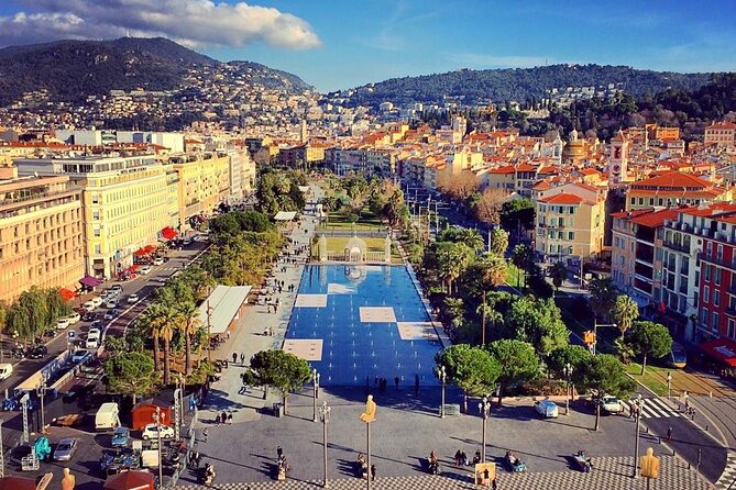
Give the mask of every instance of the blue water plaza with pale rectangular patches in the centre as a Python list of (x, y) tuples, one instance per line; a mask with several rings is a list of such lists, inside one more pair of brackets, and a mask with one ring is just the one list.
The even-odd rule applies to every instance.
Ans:
[(307, 358), (322, 386), (437, 383), (441, 344), (406, 267), (310, 265), (298, 292), (284, 348)]

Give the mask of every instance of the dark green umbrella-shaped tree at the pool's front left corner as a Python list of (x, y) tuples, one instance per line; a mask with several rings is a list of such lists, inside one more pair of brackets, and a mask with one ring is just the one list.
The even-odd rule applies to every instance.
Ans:
[(300, 388), (311, 377), (309, 364), (284, 350), (261, 350), (251, 358), (251, 369), (255, 385), (264, 387), (263, 398), (268, 396), (268, 387), (278, 388), (284, 399), (284, 413), (287, 413), (289, 392)]

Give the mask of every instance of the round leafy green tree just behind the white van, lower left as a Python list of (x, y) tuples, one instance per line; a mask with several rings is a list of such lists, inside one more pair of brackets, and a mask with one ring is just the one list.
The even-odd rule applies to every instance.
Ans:
[(108, 389), (113, 393), (133, 397), (153, 393), (156, 388), (156, 370), (153, 360), (144, 353), (117, 353), (102, 364), (108, 378)]

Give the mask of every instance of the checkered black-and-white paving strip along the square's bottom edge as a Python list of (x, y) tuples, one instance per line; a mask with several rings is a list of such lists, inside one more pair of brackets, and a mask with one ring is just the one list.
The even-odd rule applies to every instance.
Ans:
[[(576, 470), (556, 472), (526, 472), (508, 474), (498, 469), (498, 488), (504, 490), (638, 490), (646, 488), (644, 478), (633, 479), (630, 457), (596, 458), (595, 468), (590, 474)], [(472, 480), (472, 474), (447, 468), (442, 476), (417, 475), (410, 477), (381, 477), (376, 478), (373, 488), (380, 490), (435, 490), (435, 489), (477, 489)], [(330, 480), (329, 486), (338, 490), (359, 490), (365, 488), (365, 481), (359, 478)], [(221, 490), (308, 490), (321, 487), (321, 481), (270, 481), (257, 483), (216, 483), (213, 487)], [(189, 486), (179, 489), (201, 489), (205, 487)], [(712, 488), (700, 478), (688, 465), (671, 456), (660, 457), (660, 476), (651, 482), (652, 489), (668, 490), (705, 490)]]

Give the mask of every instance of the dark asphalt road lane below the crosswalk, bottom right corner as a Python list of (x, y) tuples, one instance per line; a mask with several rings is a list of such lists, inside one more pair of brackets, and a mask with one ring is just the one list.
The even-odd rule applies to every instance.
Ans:
[[(697, 467), (700, 450), (700, 472), (715, 482), (726, 467), (727, 449), (691, 424), (684, 416), (641, 419), (649, 432), (661, 437), (693, 467)], [(667, 431), (672, 427), (672, 438), (667, 441)]]

